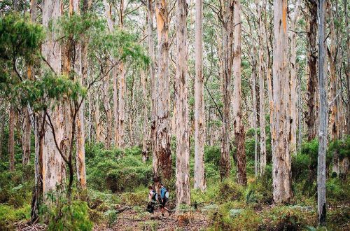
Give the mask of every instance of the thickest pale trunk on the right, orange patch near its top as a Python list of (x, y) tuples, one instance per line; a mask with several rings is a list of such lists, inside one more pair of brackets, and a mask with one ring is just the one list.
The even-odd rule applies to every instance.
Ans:
[(286, 9), (287, 0), (274, 0), (272, 178), (275, 203), (288, 203), (292, 197), (289, 151), (288, 31), (282, 25), (287, 17)]

